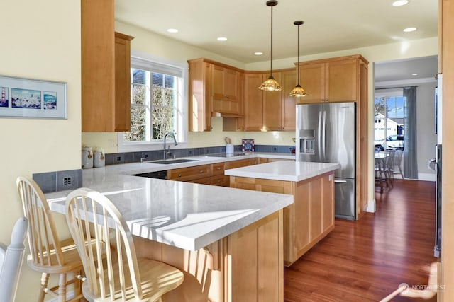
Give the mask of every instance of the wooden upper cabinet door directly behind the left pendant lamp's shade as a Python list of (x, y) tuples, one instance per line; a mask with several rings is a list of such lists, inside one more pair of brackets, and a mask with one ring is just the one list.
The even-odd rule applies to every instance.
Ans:
[[(282, 73), (273, 74), (277, 83), (282, 83)], [(281, 100), (282, 91), (263, 91), (263, 126), (262, 129), (281, 130)]]

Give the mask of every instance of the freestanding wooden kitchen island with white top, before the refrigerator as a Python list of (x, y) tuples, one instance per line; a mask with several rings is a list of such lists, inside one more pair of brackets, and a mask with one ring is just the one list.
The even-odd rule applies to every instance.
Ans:
[(226, 170), (230, 186), (292, 194), (284, 209), (284, 265), (290, 266), (334, 228), (334, 170), (338, 163), (275, 161)]

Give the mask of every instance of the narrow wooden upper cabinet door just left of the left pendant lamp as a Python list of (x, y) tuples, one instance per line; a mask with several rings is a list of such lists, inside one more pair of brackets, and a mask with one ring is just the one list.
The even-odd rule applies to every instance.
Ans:
[(245, 74), (245, 130), (262, 130), (262, 74)]

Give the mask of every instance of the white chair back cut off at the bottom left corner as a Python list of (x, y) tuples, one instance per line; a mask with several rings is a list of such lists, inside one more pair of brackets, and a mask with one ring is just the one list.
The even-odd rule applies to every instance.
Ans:
[(0, 297), (1, 301), (14, 302), (21, 274), (23, 261), (23, 245), (26, 240), (28, 221), (21, 217), (16, 221), (11, 233), (11, 243), (6, 250), (0, 247)]

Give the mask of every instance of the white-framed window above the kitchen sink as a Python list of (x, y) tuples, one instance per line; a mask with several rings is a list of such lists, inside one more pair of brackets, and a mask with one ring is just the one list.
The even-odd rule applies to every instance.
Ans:
[(118, 151), (162, 149), (165, 132), (185, 146), (187, 66), (166, 59), (131, 56), (131, 131), (118, 134)]

